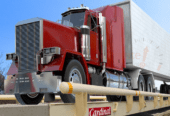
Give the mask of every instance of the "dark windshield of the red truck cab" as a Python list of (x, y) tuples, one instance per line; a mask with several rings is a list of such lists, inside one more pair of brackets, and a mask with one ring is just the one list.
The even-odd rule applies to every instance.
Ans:
[(62, 17), (62, 24), (69, 27), (80, 27), (84, 24), (85, 12), (69, 13)]

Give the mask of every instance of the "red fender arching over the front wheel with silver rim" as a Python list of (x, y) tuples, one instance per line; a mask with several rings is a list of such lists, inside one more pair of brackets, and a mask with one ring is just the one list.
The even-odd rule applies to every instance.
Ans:
[(74, 52), (74, 51), (70, 51), (70, 50), (66, 50), (64, 56), (63, 56), (64, 60), (62, 60), (61, 65), (59, 70), (63, 70), (65, 62), (67, 59), (77, 59), (83, 66), (85, 74), (86, 74), (86, 80), (87, 80), (87, 84), (90, 84), (90, 75), (88, 72), (88, 66), (86, 63), (86, 60), (84, 59), (83, 55), (81, 53), (78, 52)]

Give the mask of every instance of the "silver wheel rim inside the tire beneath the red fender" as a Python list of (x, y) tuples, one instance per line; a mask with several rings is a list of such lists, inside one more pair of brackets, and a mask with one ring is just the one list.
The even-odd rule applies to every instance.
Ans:
[[(82, 76), (77, 68), (73, 68), (70, 71), (69, 82), (71, 83), (82, 83)], [(75, 97), (75, 94), (72, 94)]]

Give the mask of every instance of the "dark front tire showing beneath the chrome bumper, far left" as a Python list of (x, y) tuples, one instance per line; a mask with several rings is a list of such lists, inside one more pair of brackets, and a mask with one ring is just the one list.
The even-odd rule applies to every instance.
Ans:
[(35, 96), (32, 94), (15, 94), (17, 101), (22, 105), (39, 104), (43, 99), (44, 94), (37, 93)]

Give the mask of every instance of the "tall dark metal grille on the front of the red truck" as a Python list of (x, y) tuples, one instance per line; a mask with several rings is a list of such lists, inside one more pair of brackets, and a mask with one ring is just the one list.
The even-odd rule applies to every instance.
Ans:
[(36, 71), (36, 53), (39, 51), (40, 21), (16, 26), (16, 54), (18, 71)]

